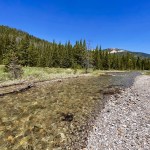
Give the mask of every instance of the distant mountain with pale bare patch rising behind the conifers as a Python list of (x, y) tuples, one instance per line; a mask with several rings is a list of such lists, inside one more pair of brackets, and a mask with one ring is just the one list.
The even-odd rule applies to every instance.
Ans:
[(119, 49), (119, 48), (108, 48), (104, 49), (105, 51), (107, 50), (110, 54), (117, 53), (119, 55), (125, 54), (125, 53), (131, 53), (135, 55), (136, 57), (144, 57), (144, 58), (150, 58), (150, 54), (147, 53), (142, 53), (142, 52), (132, 52), (129, 50), (124, 50), (124, 49)]

